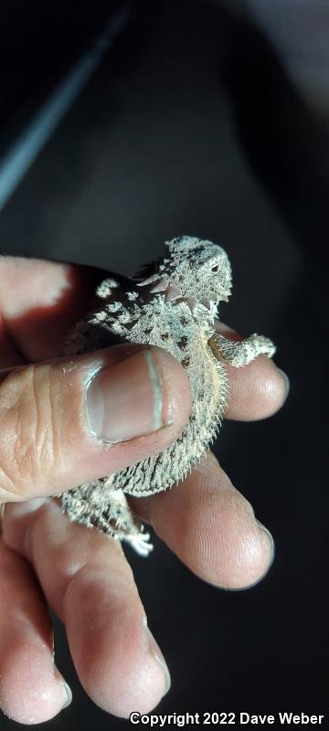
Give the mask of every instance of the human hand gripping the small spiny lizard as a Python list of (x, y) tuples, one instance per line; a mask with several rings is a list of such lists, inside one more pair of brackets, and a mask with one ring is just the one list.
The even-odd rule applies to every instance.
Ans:
[[(0, 259), (0, 499), (7, 503), (0, 543), (0, 705), (25, 724), (50, 719), (69, 700), (53, 663), (47, 602), (65, 623), (80, 682), (101, 708), (121, 716), (136, 708), (147, 713), (169, 685), (122, 546), (69, 523), (50, 498), (163, 450), (189, 414), (186, 373), (168, 354), (156, 351), (154, 360), (173, 423), (155, 431), (140, 347), (57, 357), (69, 328), (90, 309), (88, 292), (101, 277), (70, 265)], [(109, 366), (109, 423), (111, 387), (118, 388), (114, 377), (120, 376), (132, 412), (136, 387), (143, 389), (143, 433), (150, 432), (134, 432), (134, 439), (111, 449), (94, 439), (85, 416), (88, 378), (100, 358)], [(284, 379), (268, 358), (228, 372), (227, 418), (265, 418), (281, 407)], [(127, 424), (131, 429), (129, 410)], [(271, 536), (211, 455), (179, 488), (133, 505), (186, 566), (216, 586), (247, 587), (271, 565)]]

